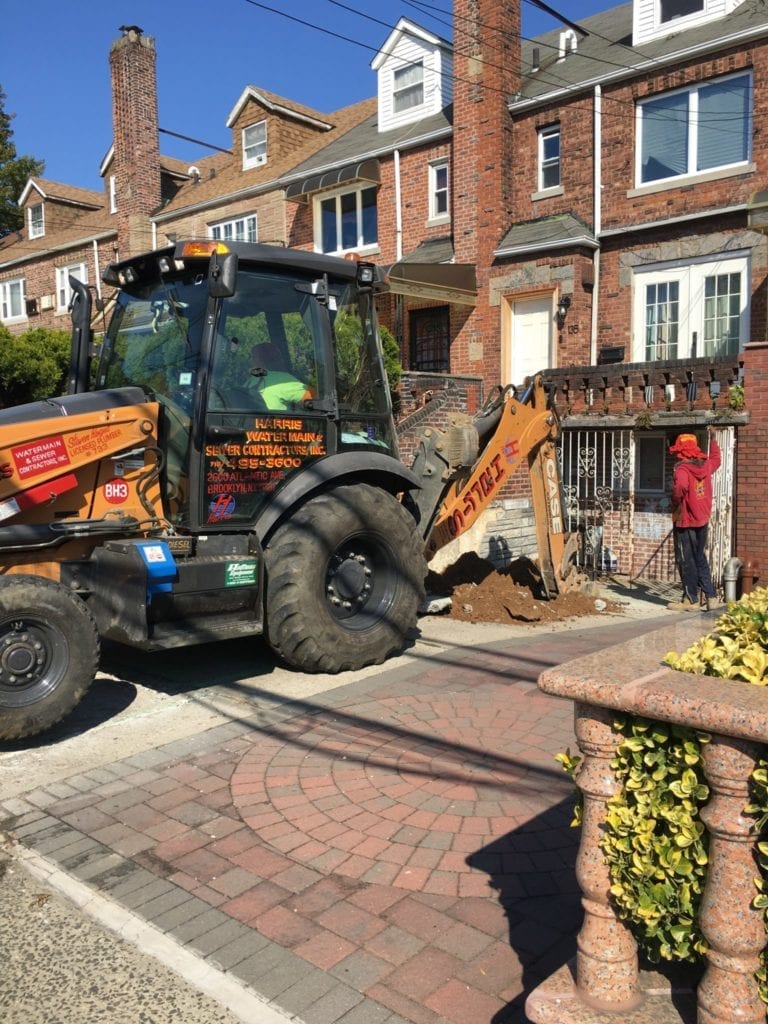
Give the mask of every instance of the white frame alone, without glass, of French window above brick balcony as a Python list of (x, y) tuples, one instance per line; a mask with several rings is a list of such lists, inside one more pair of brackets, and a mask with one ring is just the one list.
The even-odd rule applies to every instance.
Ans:
[[(696, 356), (726, 354), (721, 352), (714, 341), (707, 338), (707, 312), (713, 302), (705, 294), (708, 279), (718, 279), (725, 274), (740, 276), (738, 309), (738, 351), (750, 340), (750, 302), (752, 296), (751, 254), (748, 250), (735, 253), (721, 253), (694, 260), (676, 260), (655, 263), (643, 268), (635, 268), (633, 278), (633, 332), (632, 362), (657, 361), (660, 359), (688, 359), (693, 356), (693, 335), (695, 334)], [(678, 285), (677, 349), (659, 353), (656, 360), (646, 354), (646, 297), (649, 285), (676, 282)], [(717, 303), (715, 303), (717, 304)], [(736, 315), (735, 313), (733, 314)], [(727, 318), (727, 317), (721, 317)], [(729, 353), (731, 354), (731, 353)]]

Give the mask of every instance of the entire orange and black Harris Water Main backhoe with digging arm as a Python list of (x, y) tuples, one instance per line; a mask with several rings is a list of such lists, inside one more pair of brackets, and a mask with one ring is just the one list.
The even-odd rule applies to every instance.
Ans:
[[(565, 547), (536, 381), (398, 459), (371, 263), (184, 241), (114, 263), (103, 339), (71, 279), (68, 393), (0, 410), (0, 739), (68, 715), (111, 639), (263, 636), (304, 672), (414, 635), (431, 554), (529, 465), (543, 574)], [(447, 458), (446, 458), (447, 455)]]

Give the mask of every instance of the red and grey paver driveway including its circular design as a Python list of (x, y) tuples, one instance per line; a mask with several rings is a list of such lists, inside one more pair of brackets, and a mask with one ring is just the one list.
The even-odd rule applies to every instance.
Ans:
[[(485, 648), (252, 714), (0, 805), (0, 827), (307, 1024), (501, 1024), (581, 920), (539, 673), (653, 628)], [(109, 1024), (109, 1022), (106, 1022)]]

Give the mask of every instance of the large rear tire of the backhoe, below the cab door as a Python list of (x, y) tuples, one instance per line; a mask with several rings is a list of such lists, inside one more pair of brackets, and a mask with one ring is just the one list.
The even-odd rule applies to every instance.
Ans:
[(270, 645), (304, 672), (379, 665), (402, 650), (424, 599), (413, 516), (365, 483), (307, 502), (266, 551)]

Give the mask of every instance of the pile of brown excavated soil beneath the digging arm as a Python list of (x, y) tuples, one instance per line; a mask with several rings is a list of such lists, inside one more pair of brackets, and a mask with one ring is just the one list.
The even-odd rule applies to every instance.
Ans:
[(430, 571), (427, 592), (451, 597), (452, 607), (445, 613), (465, 623), (537, 625), (623, 612), (610, 601), (596, 606), (594, 595), (579, 590), (547, 600), (537, 566), (527, 558), (500, 570), (478, 555), (462, 555), (443, 572)]

